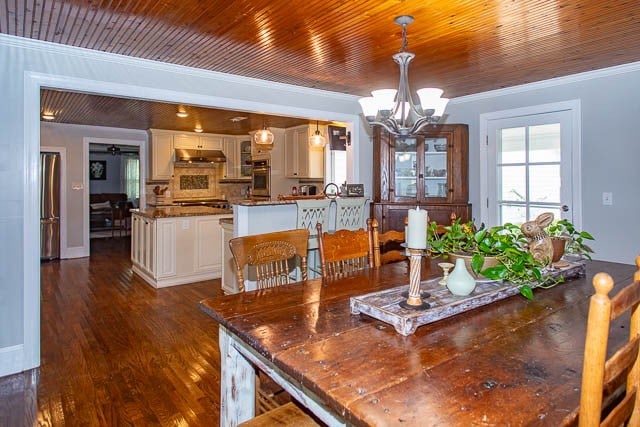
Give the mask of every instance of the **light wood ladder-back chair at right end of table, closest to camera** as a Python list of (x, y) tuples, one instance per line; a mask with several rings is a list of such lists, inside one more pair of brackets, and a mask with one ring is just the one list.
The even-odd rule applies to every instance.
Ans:
[[(580, 405), (563, 426), (640, 425), (640, 256), (633, 283), (613, 298), (613, 279), (607, 273), (593, 277), (596, 293), (591, 297), (582, 367)], [(610, 322), (630, 313), (629, 340), (609, 358)], [(609, 349), (611, 351), (611, 349)]]

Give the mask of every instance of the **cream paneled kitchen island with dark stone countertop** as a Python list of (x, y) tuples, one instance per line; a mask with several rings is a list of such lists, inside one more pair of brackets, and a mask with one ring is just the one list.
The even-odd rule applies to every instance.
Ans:
[(230, 209), (205, 206), (131, 211), (133, 271), (155, 288), (220, 278), (220, 219)]

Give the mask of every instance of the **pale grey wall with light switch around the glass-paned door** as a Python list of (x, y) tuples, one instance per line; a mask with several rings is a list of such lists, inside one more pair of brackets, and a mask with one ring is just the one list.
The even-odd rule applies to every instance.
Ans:
[[(582, 229), (595, 237), (594, 259), (633, 263), (640, 254), (640, 63), (518, 88), (457, 98), (447, 122), (469, 124), (469, 195), (480, 218), (479, 116), (482, 113), (579, 99), (582, 111)], [(602, 193), (613, 193), (613, 205)]]

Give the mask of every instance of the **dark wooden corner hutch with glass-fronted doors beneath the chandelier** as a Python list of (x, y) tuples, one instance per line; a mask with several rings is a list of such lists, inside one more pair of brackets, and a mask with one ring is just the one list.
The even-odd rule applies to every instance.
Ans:
[(452, 213), (471, 219), (467, 125), (427, 126), (406, 138), (374, 126), (373, 149), (371, 215), (381, 231), (404, 230), (407, 210), (416, 206), (438, 224)]

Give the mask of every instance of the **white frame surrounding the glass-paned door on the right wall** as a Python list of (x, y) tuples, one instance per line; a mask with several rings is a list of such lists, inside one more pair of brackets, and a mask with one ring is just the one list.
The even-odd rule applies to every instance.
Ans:
[(582, 115), (579, 99), (480, 114), (480, 221), (482, 223), (495, 225), (489, 224), (489, 209), (487, 207), (490, 191), (488, 188), (488, 176), (489, 173), (495, 173), (495, 171), (488, 170), (489, 121), (557, 111), (569, 111), (571, 113), (572, 222), (577, 229), (582, 228), (582, 135), (580, 132), (582, 129)]

